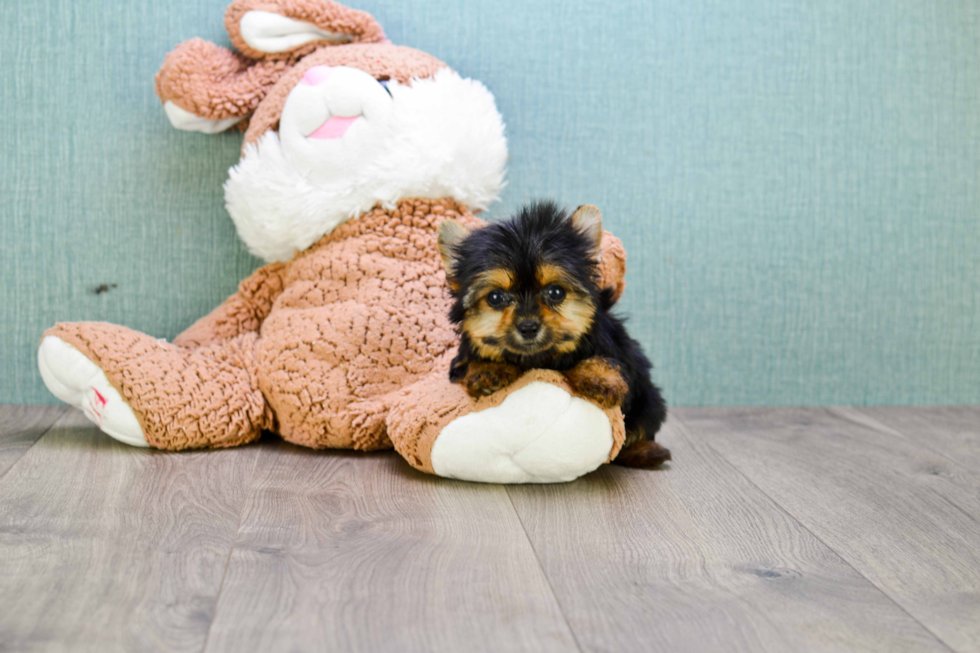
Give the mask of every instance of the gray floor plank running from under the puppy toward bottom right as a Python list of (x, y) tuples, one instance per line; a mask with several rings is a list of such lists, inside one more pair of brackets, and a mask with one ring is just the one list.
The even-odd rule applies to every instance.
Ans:
[(946, 648), (675, 420), (660, 471), (508, 488), (584, 650)]

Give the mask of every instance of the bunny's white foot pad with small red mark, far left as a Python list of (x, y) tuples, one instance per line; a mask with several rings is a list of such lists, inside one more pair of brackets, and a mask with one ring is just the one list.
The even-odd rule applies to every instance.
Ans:
[(46, 336), (37, 365), (51, 394), (80, 409), (103, 433), (134, 447), (149, 446), (133, 409), (82, 352), (57, 336)]

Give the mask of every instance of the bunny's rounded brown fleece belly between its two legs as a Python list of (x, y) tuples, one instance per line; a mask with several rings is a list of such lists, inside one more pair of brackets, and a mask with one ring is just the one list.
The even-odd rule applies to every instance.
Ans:
[(266, 319), (259, 387), (283, 438), (316, 448), (379, 448), (379, 435), (365, 436), (359, 423), (377, 418), (385, 395), (420, 379), (456, 346), (448, 306), (416, 311), (388, 299), (283, 307)]

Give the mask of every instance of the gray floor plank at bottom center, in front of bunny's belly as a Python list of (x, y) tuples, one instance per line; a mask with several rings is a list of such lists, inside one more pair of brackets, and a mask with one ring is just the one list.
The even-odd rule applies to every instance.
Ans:
[(208, 651), (568, 651), (502, 487), (391, 452), (263, 451)]

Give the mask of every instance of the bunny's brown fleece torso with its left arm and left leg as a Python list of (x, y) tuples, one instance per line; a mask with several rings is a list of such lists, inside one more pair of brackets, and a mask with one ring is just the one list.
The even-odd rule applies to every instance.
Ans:
[(239, 292), (174, 344), (125, 327), (48, 331), (103, 369), (161, 449), (230, 446), (275, 429), (314, 448), (390, 447), (393, 394), (456, 345), (436, 254), (452, 200), (404, 200), (335, 229)]

